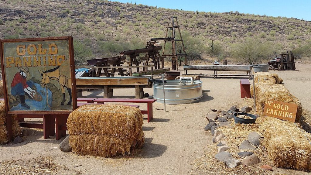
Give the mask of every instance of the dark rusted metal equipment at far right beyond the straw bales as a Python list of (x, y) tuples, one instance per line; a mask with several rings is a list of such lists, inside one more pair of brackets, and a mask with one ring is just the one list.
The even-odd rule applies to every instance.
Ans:
[(273, 70), (295, 70), (294, 53), (286, 51), (286, 54), (278, 54), (268, 64)]

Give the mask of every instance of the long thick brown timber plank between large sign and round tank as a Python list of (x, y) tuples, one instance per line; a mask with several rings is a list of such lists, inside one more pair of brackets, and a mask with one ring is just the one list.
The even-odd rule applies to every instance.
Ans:
[(87, 85), (148, 85), (149, 78), (88, 78), (76, 79), (77, 86)]

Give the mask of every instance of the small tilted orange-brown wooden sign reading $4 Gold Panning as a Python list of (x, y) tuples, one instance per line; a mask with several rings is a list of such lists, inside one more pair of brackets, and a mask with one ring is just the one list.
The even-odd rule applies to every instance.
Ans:
[(295, 122), (298, 105), (275, 100), (266, 100), (263, 110), (265, 116), (275, 117), (281, 120)]

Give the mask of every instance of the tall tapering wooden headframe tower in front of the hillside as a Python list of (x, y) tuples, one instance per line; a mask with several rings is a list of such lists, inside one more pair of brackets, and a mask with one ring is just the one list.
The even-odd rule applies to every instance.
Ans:
[[(178, 40), (176, 39), (175, 28), (177, 28), (179, 32), (180, 39)], [(172, 35), (171, 37), (168, 38), (167, 35), (168, 35), (169, 30), (172, 31)], [(186, 54), (185, 46), (183, 45), (183, 38), (180, 33), (177, 17), (169, 18), (169, 21), (167, 22), (167, 27), (166, 27), (165, 38), (168, 38), (168, 40), (164, 40), (164, 49), (163, 49), (162, 56), (171, 57), (172, 58), (172, 69), (178, 70), (178, 58), (183, 56), (185, 58), (185, 64), (187, 64), (187, 54)], [(169, 54), (164, 54), (166, 42), (172, 42), (172, 52)], [(177, 53), (176, 42), (181, 42), (183, 53)]]

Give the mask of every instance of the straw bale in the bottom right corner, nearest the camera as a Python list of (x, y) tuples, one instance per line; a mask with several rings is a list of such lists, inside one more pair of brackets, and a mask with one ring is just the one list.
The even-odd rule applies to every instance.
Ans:
[(264, 145), (269, 158), (279, 168), (311, 170), (311, 135), (290, 121), (265, 117)]

